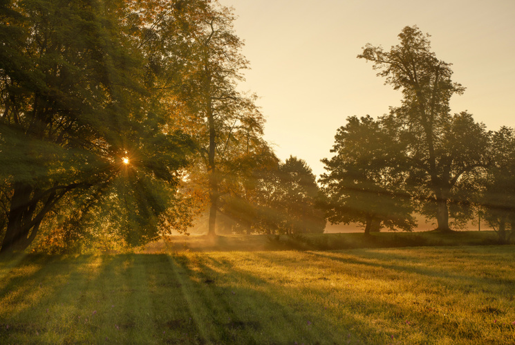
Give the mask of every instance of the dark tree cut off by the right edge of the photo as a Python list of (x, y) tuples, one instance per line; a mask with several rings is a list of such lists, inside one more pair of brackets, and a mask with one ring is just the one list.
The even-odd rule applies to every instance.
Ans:
[(485, 221), (497, 232), (499, 241), (506, 243), (515, 235), (515, 132), (502, 127), (492, 142), (494, 164), (487, 174), (482, 206)]

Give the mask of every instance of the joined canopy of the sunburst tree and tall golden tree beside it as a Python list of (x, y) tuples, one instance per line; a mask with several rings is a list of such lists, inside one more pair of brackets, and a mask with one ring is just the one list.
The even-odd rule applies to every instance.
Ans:
[(1, 251), (41, 228), (138, 245), (185, 231), (206, 195), (214, 234), (277, 164), (217, 1), (3, 1), (0, 18)]

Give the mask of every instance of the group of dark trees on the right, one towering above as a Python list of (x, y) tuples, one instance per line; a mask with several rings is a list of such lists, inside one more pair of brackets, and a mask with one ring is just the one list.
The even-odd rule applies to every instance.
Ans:
[(367, 44), (358, 58), (373, 63), (402, 104), (374, 120), (347, 119), (324, 159), (320, 182), (328, 219), (411, 230), (414, 212), (451, 231), (483, 214), (501, 241), (515, 232), (515, 133), (487, 131), (449, 101), (465, 88), (451, 80), (451, 64), (431, 51), (429, 35), (406, 26), (391, 50)]

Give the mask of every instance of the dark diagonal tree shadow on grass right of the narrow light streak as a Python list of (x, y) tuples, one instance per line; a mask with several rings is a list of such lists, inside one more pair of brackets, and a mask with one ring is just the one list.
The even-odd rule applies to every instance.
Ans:
[[(256, 268), (276, 264), (273, 261), (266, 263), (259, 253), (248, 255)], [(323, 299), (329, 297), (329, 291), (299, 289), (288, 281), (277, 283), (275, 279), (260, 277), (252, 272), (252, 263), (241, 268), (229, 260), (203, 257), (191, 265), (187, 270), (193, 274), (192, 281), (213, 281), (200, 288), (196, 296), (202, 300), (201, 306), (214, 311), (209, 322), (216, 324), (218, 337), (215, 342), (357, 344), (391, 340), (392, 334), (374, 326), (366, 315), (351, 308), (328, 310), (327, 301)], [(316, 297), (310, 298), (313, 295)], [(366, 306), (367, 303), (368, 297), (362, 296), (353, 301), (353, 306)], [(391, 310), (393, 305), (380, 307)], [(397, 316), (402, 319), (402, 314)], [(230, 315), (234, 315), (233, 319), (227, 319)], [(382, 340), (378, 342), (377, 339)]]

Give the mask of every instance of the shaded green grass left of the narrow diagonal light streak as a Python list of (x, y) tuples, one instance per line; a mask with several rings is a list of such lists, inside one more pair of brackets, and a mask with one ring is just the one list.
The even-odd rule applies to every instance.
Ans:
[[(3, 287), (24, 290), (26, 297), (23, 308), (13, 308), (0, 319), (0, 339), (204, 343), (184, 313), (187, 304), (166, 255), (46, 257), (37, 262), (39, 271), (10, 279)], [(6, 298), (0, 295), (0, 303), (10, 303)]]

